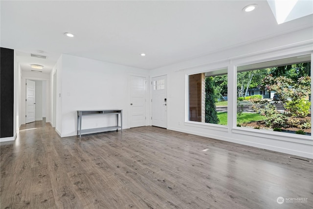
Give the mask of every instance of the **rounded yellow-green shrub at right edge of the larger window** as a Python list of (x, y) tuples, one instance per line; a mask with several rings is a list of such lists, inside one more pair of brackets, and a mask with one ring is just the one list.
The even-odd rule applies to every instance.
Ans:
[(286, 109), (292, 116), (305, 117), (310, 114), (311, 102), (301, 98), (300, 100), (291, 100), (286, 102)]

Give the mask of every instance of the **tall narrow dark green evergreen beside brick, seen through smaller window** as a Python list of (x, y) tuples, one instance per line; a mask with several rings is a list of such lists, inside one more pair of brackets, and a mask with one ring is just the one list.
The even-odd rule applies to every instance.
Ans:
[(215, 91), (212, 77), (205, 78), (205, 122), (206, 123), (219, 123), (219, 118), (215, 106)]

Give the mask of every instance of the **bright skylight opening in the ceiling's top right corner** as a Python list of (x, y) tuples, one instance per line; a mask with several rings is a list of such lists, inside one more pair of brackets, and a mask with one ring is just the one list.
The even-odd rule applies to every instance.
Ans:
[(278, 24), (313, 14), (312, 0), (268, 0)]

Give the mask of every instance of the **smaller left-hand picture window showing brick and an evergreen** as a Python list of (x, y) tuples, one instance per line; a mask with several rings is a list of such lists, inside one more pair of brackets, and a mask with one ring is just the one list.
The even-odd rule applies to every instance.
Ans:
[(227, 125), (227, 69), (188, 76), (189, 121)]

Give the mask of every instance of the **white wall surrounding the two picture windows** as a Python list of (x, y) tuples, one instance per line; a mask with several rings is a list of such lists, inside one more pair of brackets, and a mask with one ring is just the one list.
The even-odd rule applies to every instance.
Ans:
[[(166, 74), (168, 78), (168, 129), (313, 158), (313, 136), (236, 127), (235, 87), (236, 66), (308, 54), (312, 50), (313, 28), (309, 27), (151, 70), (151, 77)], [(188, 122), (187, 75), (225, 67), (228, 68), (228, 125)]]

